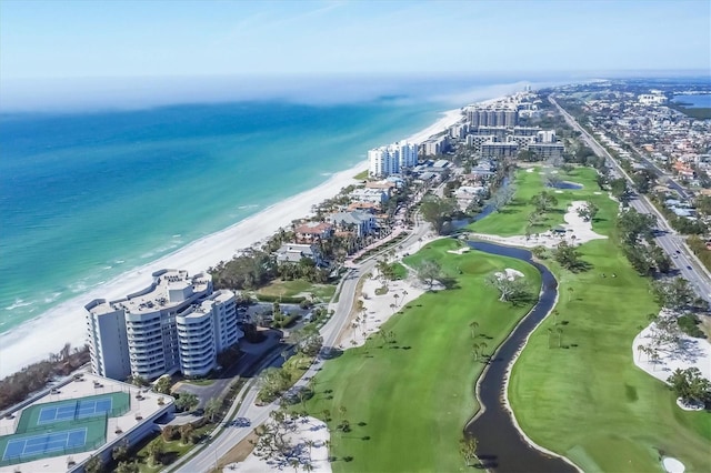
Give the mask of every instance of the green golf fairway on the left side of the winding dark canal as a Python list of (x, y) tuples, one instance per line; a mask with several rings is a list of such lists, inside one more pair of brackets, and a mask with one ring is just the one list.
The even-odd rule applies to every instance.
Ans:
[[(307, 407), (320, 419), (324, 410), (331, 413), (334, 471), (463, 469), (459, 440), (478, 409), (473, 388), (484, 366), (473, 360), (472, 344), (485, 342), (491, 353), (530, 309), (499, 302), (484, 279), (513, 268), (538, 291), (540, 275), (518, 260), (447, 252), (455, 248), (454, 240), (438, 240), (408, 259), (408, 264), (437, 259), (454, 285), (423, 294), (391, 318), (382, 329), (394, 333), (394, 343), (373, 335), (364, 346), (328, 361), (317, 375), (316, 395)], [(475, 339), (472, 321), (479, 323)], [(336, 430), (343, 419), (350, 422), (349, 433)], [(348, 456), (349, 462), (343, 460)]]

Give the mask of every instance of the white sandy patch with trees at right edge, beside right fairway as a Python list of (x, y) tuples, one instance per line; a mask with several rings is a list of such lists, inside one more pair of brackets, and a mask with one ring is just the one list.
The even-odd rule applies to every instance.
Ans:
[[(670, 316), (662, 311), (662, 316)], [(701, 375), (711, 380), (711, 344), (705, 339), (694, 339), (681, 333), (678, 344), (665, 344), (658, 348), (658, 360), (652, 360), (645, 353), (638, 351), (638, 346), (652, 344), (652, 333), (657, 330), (655, 323), (650, 323), (632, 342), (632, 356), (634, 364), (650, 375), (667, 382), (667, 379), (677, 370), (685, 370), (695, 366)]]

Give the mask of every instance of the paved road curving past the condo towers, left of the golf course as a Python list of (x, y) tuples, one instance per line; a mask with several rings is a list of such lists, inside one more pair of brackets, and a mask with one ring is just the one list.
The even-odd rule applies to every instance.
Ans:
[[(420, 238), (423, 238), (430, 231), (429, 224), (424, 223), (419, 214), (415, 215), (414, 220), (415, 225), (412, 232), (402, 241), (402, 243), (400, 243), (403, 248), (408, 248), (411, 244), (418, 243), (418, 240)], [(339, 301), (331, 306), (331, 309), (334, 310), (334, 313), (329, 322), (321, 329), (321, 335), (323, 336), (323, 350), (321, 353), (323, 355), (328, 356), (329, 351), (336, 346), (340, 333), (349, 323), (349, 314), (356, 300), (356, 289), (358, 285), (358, 281), (363, 274), (367, 274), (375, 268), (375, 258), (372, 256), (363, 261), (358, 268), (349, 270), (342, 279), (340, 283), (341, 285)], [(276, 365), (280, 362), (281, 358), (277, 356), (273, 360), (272, 364)], [(319, 356), (299, 380), (299, 382), (294, 384), (294, 388), (306, 386), (308, 380), (317, 374), (322, 363), (323, 360), (321, 356)], [(230, 449), (244, 440), (244, 437), (247, 437), (247, 435), (249, 435), (249, 433), (257, 425), (267, 421), (269, 419), (269, 413), (278, 409), (279, 404), (277, 402), (273, 402), (264, 406), (256, 405), (254, 400), (257, 399), (258, 392), (259, 390), (256, 385), (246, 386), (242, 392), (238, 394), (236, 404), (232, 406), (232, 410), (230, 410), (230, 413), (228, 413), (227, 416), (230, 416), (230, 414), (236, 409), (239, 400), (242, 397), (242, 394), (246, 393), (244, 401), (237, 411), (236, 416), (249, 419), (251, 422), (250, 426), (223, 425), (221, 427), (221, 434), (219, 434), (219, 429), (216, 430), (213, 436), (216, 434), (219, 434), (219, 436), (212, 440), (207, 449), (198, 454), (190, 456), (189, 460), (176, 471), (184, 473), (197, 473), (208, 472), (214, 469), (220, 457), (224, 456), (227, 452), (230, 451)]]

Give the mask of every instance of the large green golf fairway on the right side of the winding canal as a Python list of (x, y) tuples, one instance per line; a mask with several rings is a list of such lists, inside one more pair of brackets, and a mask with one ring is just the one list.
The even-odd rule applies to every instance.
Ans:
[[(585, 188), (567, 193), (600, 207), (593, 228), (610, 239), (580, 246), (591, 271), (573, 274), (545, 261), (560, 283), (559, 325), (553, 318), (544, 321), (513, 368), (509, 399), (519, 424), (585, 472), (661, 471), (662, 452), (680, 459), (687, 471), (709, 472), (711, 413), (681, 411), (667, 385), (633, 363), (632, 340), (659, 308), (649, 281), (637, 275), (617, 245), (617, 203), (593, 194), (594, 171), (574, 173), (578, 178), (570, 180)], [(518, 189), (528, 197), (531, 188)], [(501, 234), (499, 225), (517, 233), (511, 215), (504, 209), (480, 223), (492, 233)], [(557, 346), (557, 335), (549, 348), (548, 329), (558, 328), (568, 349)]]

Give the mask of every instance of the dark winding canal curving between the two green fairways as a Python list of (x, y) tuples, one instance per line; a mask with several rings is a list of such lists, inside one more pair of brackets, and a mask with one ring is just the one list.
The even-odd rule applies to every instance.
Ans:
[(473, 241), (469, 245), (474, 250), (525, 261), (535, 266), (542, 276), (538, 303), (499, 346), (477, 384), (481, 410), (464, 429), (479, 441), (477, 456), (487, 470), (497, 473), (577, 472), (564, 460), (530, 446), (513, 424), (505, 405), (507, 373), (529, 334), (555, 304), (558, 281), (548, 268), (532, 260), (530, 251)]

